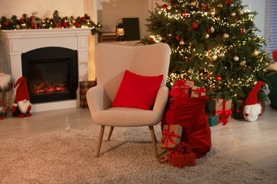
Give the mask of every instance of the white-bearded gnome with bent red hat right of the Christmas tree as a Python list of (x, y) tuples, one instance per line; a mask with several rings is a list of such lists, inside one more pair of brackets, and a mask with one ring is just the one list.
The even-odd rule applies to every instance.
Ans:
[(261, 104), (258, 102), (257, 94), (264, 86), (263, 81), (258, 81), (255, 87), (249, 92), (244, 104), (244, 120), (254, 122), (261, 116)]

